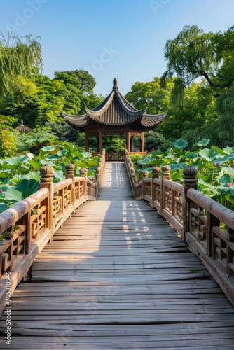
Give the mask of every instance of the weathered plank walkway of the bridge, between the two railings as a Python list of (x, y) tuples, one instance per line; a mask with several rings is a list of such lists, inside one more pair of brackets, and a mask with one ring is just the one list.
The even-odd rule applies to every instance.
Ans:
[(106, 163), (96, 202), (55, 233), (12, 297), (1, 349), (234, 349), (234, 308), (156, 210)]

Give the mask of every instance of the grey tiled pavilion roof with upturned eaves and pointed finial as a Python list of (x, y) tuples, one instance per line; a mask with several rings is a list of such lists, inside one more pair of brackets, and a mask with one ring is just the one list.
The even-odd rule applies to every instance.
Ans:
[(163, 121), (167, 111), (151, 115), (146, 114), (147, 107), (148, 104), (138, 111), (118, 91), (118, 86), (113, 85), (112, 92), (92, 111), (85, 106), (85, 114), (81, 116), (71, 116), (63, 111), (60, 112), (66, 123), (77, 130), (82, 130), (90, 124), (112, 126), (139, 124), (146, 129), (151, 129)]

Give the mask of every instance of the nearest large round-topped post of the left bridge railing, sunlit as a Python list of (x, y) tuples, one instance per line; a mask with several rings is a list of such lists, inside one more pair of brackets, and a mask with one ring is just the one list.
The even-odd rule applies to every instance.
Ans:
[(49, 191), (46, 220), (48, 228), (50, 229), (50, 242), (53, 241), (53, 174), (54, 169), (48, 164), (43, 165), (43, 167), (40, 168), (41, 181), (39, 183), (39, 189), (46, 187)]

